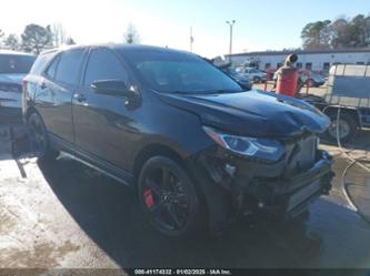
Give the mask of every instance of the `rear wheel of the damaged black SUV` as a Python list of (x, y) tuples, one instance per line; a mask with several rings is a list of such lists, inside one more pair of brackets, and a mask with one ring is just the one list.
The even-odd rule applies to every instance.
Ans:
[(42, 117), (38, 113), (32, 113), (27, 120), (27, 129), (31, 143), (31, 151), (36, 153), (39, 160), (56, 160), (59, 152), (51, 149), (48, 131), (43, 124)]

